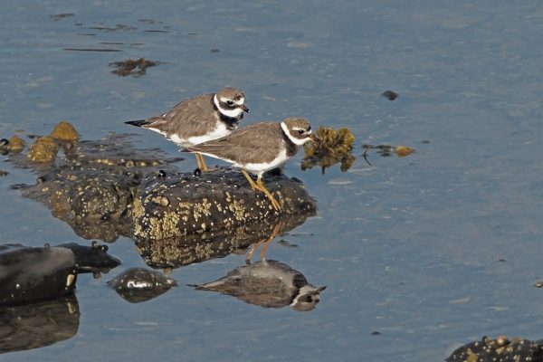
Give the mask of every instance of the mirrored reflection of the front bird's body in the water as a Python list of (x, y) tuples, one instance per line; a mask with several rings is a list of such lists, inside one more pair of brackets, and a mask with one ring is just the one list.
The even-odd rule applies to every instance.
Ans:
[(314, 310), (326, 287), (311, 285), (306, 277), (283, 262), (262, 260), (229, 271), (223, 278), (201, 285), (199, 291), (217, 291), (264, 308)]

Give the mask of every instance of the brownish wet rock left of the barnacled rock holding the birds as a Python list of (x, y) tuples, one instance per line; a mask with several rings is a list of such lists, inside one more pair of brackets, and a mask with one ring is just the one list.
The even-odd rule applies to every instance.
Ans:
[[(160, 158), (158, 149), (134, 149), (128, 135), (81, 141), (64, 153), (50, 167), (39, 168), (36, 184), (24, 186), (22, 193), (47, 205), (81, 237), (106, 242), (132, 235), (130, 208), (142, 174), (182, 159)], [(13, 162), (28, 167), (24, 159)]]

